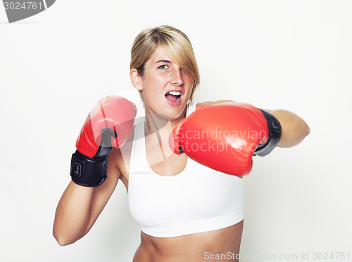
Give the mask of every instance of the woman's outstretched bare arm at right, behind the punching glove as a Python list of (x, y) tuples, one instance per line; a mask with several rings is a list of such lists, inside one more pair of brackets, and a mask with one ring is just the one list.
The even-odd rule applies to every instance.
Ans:
[[(202, 105), (215, 105), (220, 103), (234, 102), (232, 100), (218, 100), (218, 101), (208, 101), (204, 103), (197, 103), (196, 107)], [(270, 114), (274, 115), (277, 120), (279, 120), (282, 128), (282, 136), (280, 138), (279, 144), (280, 148), (291, 148), (298, 145), (303, 141), (306, 136), (310, 133), (309, 126), (306, 122), (298, 117), (298, 115), (287, 110), (266, 110)]]

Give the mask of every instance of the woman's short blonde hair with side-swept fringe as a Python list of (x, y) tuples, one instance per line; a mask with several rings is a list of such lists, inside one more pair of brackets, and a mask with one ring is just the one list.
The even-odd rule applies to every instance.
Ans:
[(162, 25), (142, 31), (131, 49), (130, 70), (135, 68), (142, 76), (144, 65), (157, 46), (163, 46), (170, 55), (171, 60), (193, 79), (193, 88), (189, 100), (192, 100), (194, 91), (199, 86), (199, 70), (196, 63), (191, 41), (186, 34), (175, 27)]

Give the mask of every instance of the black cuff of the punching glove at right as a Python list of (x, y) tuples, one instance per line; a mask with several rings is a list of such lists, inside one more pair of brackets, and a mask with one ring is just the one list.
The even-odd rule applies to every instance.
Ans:
[(276, 117), (270, 114), (270, 112), (266, 112), (261, 109), (259, 110), (264, 114), (266, 122), (268, 122), (269, 138), (267, 143), (265, 143), (264, 145), (258, 145), (256, 151), (254, 152), (254, 155), (258, 155), (259, 157), (265, 157), (270, 152), (272, 152), (274, 148), (276, 148), (281, 138), (282, 130), (281, 124)]

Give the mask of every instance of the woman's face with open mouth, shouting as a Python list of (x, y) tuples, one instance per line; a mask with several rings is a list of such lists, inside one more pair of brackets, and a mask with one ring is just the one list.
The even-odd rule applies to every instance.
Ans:
[(142, 91), (144, 107), (149, 113), (165, 114), (170, 120), (182, 115), (194, 80), (172, 62), (163, 47), (158, 46), (151, 54), (143, 76), (138, 79), (136, 88)]

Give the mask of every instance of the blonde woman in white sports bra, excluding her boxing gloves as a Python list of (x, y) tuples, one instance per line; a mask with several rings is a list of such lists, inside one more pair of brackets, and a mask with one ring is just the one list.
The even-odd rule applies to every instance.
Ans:
[[(243, 228), (243, 182), (199, 164), (169, 146), (172, 129), (203, 105), (190, 103), (199, 84), (187, 36), (174, 27), (145, 30), (134, 41), (130, 77), (144, 101), (146, 121), (108, 156), (107, 179), (99, 187), (70, 182), (54, 221), (54, 237), (72, 244), (92, 228), (119, 180), (129, 192), (132, 216), (142, 224), (134, 261), (238, 261)], [(291, 112), (267, 110), (282, 126), (279, 147), (308, 135)], [(73, 219), (74, 218), (74, 219)]]

